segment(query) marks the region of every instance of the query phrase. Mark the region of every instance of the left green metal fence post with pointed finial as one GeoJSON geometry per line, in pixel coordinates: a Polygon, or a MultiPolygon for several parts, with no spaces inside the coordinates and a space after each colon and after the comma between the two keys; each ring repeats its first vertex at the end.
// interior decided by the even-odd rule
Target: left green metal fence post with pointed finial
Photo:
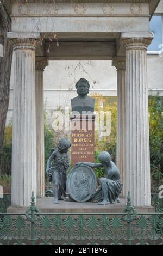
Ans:
{"type": "Polygon", "coordinates": [[[30,233],[31,245],[35,245],[35,221],[36,221],[35,212],[37,213],[37,215],[39,215],[39,210],[35,206],[34,192],[32,192],[30,206],[26,210],[27,220],[31,222],[31,226],[30,226],[30,228],[31,228],[31,233],[30,233]]]}

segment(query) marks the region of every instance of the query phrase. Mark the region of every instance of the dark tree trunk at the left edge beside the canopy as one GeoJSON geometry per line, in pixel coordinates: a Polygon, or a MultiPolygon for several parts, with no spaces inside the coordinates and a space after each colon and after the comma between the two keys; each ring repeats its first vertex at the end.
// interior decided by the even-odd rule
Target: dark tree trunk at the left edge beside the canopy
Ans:
{"type": "Polygon", "coordinates": [[[5,121],[9,106],[10,73],[12,62],[12,46],[7,38],[11,31],[11,20],[0,1],[0,44],[3,45],[3,57],[0,57],[0,153],[2,152],[5,121]]]}

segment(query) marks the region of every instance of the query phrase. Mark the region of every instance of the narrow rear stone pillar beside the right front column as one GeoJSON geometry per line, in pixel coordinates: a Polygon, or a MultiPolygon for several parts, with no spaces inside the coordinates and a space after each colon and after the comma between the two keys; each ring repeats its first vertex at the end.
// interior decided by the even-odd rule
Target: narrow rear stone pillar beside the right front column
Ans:
{"type": "Polygon", "coordinates": [[[116,56],[112,59],[112,65],[117,69],[117,167],[120,170],[122,181],[121,196],[125,197],[125,73],[126,57],[116,56]]]}

